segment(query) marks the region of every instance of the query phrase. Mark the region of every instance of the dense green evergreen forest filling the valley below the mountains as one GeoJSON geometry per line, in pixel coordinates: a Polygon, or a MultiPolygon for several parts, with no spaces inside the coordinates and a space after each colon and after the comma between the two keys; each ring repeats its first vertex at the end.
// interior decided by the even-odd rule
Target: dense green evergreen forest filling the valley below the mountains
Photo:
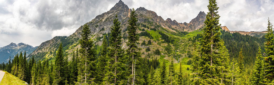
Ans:
{"type": "Polygon", "coordinates": [[[267,34],[262,37],[230,33],[221,29],[216,0],[209,0],[207,7],[209,12],[201,32],[184,42],[191,43],[186,46],[194,47],[193,51],[180,49],[181,40],[165,32],[150,28],[159,34],[153,36],[141,29],[149,27],[138,23],[139,15],[132,9],[126,30],[121,30],[119,17],[115,16],[110,33],[103,34],[100,50],[90,37],[90,26],[85,24],[78,41],[80,47],[70,57],[60,43],[54,60],[27,59],[26,52],[21,52],[2,63],[0,70],[30,85],[274,85],[274,34],[270,20],[267,34]],[[149,40],[139,40],[143,36],[149,40]],[[158,39],[155,37],[167,44],[164,49],[151,49],[158,39]],[[122,47],[125,39],[127,48],[122,47]],[[139,48],[139,44],[145,48],[139,48]],[[150,53],[142,57],[143,49],[150,53]],[[183,58],[186,60],[178,50],[187,51],[183,58]],[[162,52],[175,62],[153,57],[162,57],[162,52]]]}

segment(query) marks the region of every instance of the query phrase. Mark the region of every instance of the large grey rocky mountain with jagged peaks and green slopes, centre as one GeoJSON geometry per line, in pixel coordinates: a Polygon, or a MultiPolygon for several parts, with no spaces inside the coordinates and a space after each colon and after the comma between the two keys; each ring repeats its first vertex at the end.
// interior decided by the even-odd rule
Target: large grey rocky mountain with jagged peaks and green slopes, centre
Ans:
{"type": "MultiPolygon", "coordinates": [[[[101,15],[96,16],[94,19],[92,19],[90,22],[86,23],[90,26],[92,39],[95,41],[96,45],[100,45],[102,42],[103,35],[110,32],[110,27],[113,24],[114,16],[117,15],[119,21],[121,22],[121,29],[122,29],[122,36],[126,37],[126,27],[127,27],[127,20],[129,19],[129,15],[132,9],[129,9],[127,5],[124,4],[121,0],[114,5],[109,11],[102,13],[101,15]]],[[[171,20],[170,18],[164,20],[161,16],[158,16],[156,12],[147,10],[143,7],[139,7],[136,9],[136,13],[138,14],[138,23],[140,26],[140,29],[145,29],[147,31],[151,31],[154,33],[157,33],[155,37],[157,37],[157,40],[160,40],[160,34],[158,31],[163,31],[165,33],[170,34],[177,34],[182,31],[194,31],[197,29],[200,29],[203,26],[203,22],[205,21],[206,14],[205,12],[199,12],[198,16],[195,17],[190,21],[190,23],[178,23],[176,20],[171,20]],[[150,30],[150,29],[156,29],[150,30]]],[[[51,40],[43,42],[38,48],[31,53],[28,57],[34,56],[36,60],[40,59],[52,59],[55,56],[55,52],[57,51],[57,48],[60,43],[63,44],[63,47],[65,49],[65,54],[70,54],[72,51],[75,51],[77,48],[79,48],[79,38],[81,37],[81,30],[82,26],[80,26],[75,33],[68,37],[54,37],[51,40]]],[[[141,31],[139,31],[141,32],[141,31]]],[[[154,35],[153,35],[154,36],[154,35]]],[[[178,38],[179,37],[175,37],[178,38]]],[[[140,37],[140,42],[147,40],[147,37],[140,37]]],[[[125,46],[126,38],[123,38],[122,45],[124,48],[127,48],[125,46]]],[[[154,46],[152,49],[156,48],[164,48],[163,46],[160,46],[161,44],[157,44],[158,42],[162,41],[154,41],[156,46],[154,46]]],[[[140,48],[146,48],[144,46],[139,45],[140,48]]],[[[97,49],[98,51],[100,49],[97,49]]],[[[143,54],[142,56],[144,56],[143,54]]]]}

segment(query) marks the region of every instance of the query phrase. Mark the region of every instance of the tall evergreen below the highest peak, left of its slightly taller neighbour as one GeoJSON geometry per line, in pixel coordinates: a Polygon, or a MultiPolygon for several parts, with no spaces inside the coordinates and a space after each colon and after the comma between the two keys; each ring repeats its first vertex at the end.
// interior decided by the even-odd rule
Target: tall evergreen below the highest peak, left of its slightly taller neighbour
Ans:
{"type": "Polygon", "coordinates": [[[125,69],[126,58],[123,56],[124,51],[121,47],[122,36],[120,24],[116,15],[113,20],[113,25],[111,26],[110,48],[108,54],[110,59],[107,65],[107,76],[104,79],[105,84],[125,84],[127,82],[127,77],[125,76],[127,74],[126,70],[122,70],[125,69]]]}

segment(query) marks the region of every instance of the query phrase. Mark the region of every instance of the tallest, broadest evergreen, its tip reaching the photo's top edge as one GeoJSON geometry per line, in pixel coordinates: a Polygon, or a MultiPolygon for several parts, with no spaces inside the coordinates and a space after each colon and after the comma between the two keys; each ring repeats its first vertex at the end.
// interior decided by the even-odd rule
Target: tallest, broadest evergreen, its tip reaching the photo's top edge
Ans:
{"type": "Polygon", "coordinates": [[[222,61],[223,56],[220,56],[220,24],[219,14],[216,4],[216,0],[209,0],[207,6],[209,12],[207,12],[205,26],[202,29],[202,38],[199,40],[197,51],[194,52],[194,58],[192,63],[192,71],[194,73],[194,84],[220,84],[222,61]]]}

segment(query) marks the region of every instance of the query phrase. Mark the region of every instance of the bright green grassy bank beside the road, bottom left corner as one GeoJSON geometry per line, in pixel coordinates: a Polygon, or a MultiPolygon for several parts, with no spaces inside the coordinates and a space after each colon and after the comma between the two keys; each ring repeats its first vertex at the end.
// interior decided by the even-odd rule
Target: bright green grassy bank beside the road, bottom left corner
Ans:
{"type": "Polygon", "coordinates": [[[0,83],[0,85],[26,85],[25,81],[22,81],[18,79],[16,76],[13,76],[12,74],[5,72],[5,75],[0,83]]]}

